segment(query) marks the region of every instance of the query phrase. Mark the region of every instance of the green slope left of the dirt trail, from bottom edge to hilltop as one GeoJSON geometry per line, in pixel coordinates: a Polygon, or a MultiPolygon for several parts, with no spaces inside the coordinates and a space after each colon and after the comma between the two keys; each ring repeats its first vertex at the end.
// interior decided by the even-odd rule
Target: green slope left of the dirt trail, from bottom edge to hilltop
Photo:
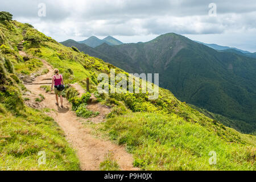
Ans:
{"type": "Polygon", "coordinates": [[[46,114],[49,109],[39,108],[39,102],[38,109],[25,104],[30,102],[29,92],[19,74],[28,80],[30,73],[46,71],[40,60],[25,61],[19,55],[16,45],[26,28],[15,21],[0,21],[0,170],[80,170],[63,130],[46,114]],[[44,155],[46,161],[40,164],[44,155]]]}

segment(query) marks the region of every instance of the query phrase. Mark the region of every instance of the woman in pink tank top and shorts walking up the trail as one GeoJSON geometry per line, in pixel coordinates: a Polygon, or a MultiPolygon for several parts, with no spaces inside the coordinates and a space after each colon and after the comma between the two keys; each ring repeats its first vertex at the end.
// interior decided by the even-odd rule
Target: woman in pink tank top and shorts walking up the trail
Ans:
{"type": "Polygon", "coordinates": [[[58,94],[60,94],[60,104],[61,104],[61,108],[63,108],[63,97],[62,97],[63,90],[59,91],[56,88],[57,85],[64,85],[63,76],[59,74],[59,69],[54,69],[54,73],[55,73],[55,75],[53,75],[53,77],[52,77],[51,91],[52,91],[53,84],[54,84],[54,93],[56,95],[56,105],[59,106],[58,94]]]}

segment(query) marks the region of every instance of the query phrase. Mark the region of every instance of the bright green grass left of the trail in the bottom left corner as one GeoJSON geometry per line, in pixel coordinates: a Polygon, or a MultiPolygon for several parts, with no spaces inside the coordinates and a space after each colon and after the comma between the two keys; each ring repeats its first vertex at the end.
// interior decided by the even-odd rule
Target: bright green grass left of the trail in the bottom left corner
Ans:
{"type": "Polygon", "coordinates": [[[26,108],[23,115],[0,114],[0,170],[79,170],[75,151],[52,118],[26,108]],[[38,164],[39,151],[46,164],[38,164]]]}

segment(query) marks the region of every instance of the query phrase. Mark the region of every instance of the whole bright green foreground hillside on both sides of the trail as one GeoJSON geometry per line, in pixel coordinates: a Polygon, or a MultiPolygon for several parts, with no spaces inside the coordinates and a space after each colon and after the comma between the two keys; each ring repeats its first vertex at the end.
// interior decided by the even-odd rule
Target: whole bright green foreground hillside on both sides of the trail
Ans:
{"type": "MultiPolygon", "coordinates": [[[[0,134],[6,136],[0,140],[2,169],[80,170],[79,164],[86,163],[86,160],[78,160],[76,147],[71,148],[65,140],[73,142],[74,136],[67,138],[61,126],[46,115],[55,115],[57,112],[64,117],[68,111],[80,117],[74,120],[78,125],[74,127],[84,130],[86,134],[92,131],[89,133],[96,134],[95,138],[101,136],[103,142],[110,139],[120,145],[118,148],[126,146],[127,152],[133,157],[133,166],[142,170],[255,171],[255,136],[241,134],[206,117],[177,100],[169,90],[159,88],[157,100],[148,100],[148,93],[100,94],[97,92],[98,75],[105,73],[110,76],[110,69],[115,69],[115,76],[118,73],[127,76],[128,73],[76,48],[65,47],[42,32],[15,20],[0,22],[0,35],[0,134]],[[21,45],[21,42],[24,44],[22,52],[19,52],[16,46],[21,45]],[[32,93],[23,85],[23,81],[30,81],[33,77],[42,75],[40,78],[43,81],[53,74],[52,69],[47,70],[43,63],[52,69],[59,68],[67,85],[64,96],[69,107],[61,109],[54,102],[52,107],[56,109],[53,111],[44,106],[39,109],[30,108],[34,105],[26,106],[26,103],[34,102],[39,105],[39,100],[44,100],[42,94],[38,95],[40,99],[29,100],[27,94],[32,93]],[[44,77],[46,74],[48,76],[44,77]],[[77,90],[68,85],[76,83],[86,88],[87,78],[90,82],[89,92],[79,97],[77,90]],[[93,123],[88,118],[88,114],[92,114],[86,107],[90,94],[97,98],[94,104],[112,109],[106,122],[93,123]],[[45,151],[47,159],[51,159],[47,160],[46,165],[38,165],[39,151],[45,151]],[[218,156],[216,165],[209,163],[211,151],[218,156]]],[[[50,85],[34,85],[33,90],[40,90],[39,93],[43,93],[43,90],[50,92],[50,85]]],[[[46,101],[54,100],[51,94],[46,95],[46,101]]],[[[67,127],[65,121],[62,123],[67,127]]],[[[72,125],[70,127],[74,130],[72,125]]],[[[87,136],[81,136],[79,131],[76,134],[75,137],[81,142],[79,147],[83,150],[88,148],[84,151],[86,155],[97,160],[96,163],[100,163],[103,170],[109,161],[118,166],[115,158],[119,156],[99,160],[104,159],[104,152],[97,158],[96,152],[90,150],[87,136]]],[[[94,146],[101,147],[100,144],[94,146]]],[[[112,149],[108,156],[115,154],[116,149],[112,149]]],[[[81,155],[86,156],[84,152],[81,155]]],[[[95,166],[87,164],[89,167],[95,166]]]]}

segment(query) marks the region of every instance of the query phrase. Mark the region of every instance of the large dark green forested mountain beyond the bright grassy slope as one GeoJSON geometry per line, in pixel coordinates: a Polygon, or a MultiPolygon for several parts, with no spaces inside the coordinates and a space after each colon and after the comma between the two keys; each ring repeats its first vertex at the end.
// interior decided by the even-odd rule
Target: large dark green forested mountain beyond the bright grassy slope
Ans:
{"type": "Polygon", "coordinates": [[[89,54],[127,72],[160,73],[160,86],[181,101],[229,118],[229,126],[243,133],[256,130],[256,59],[216,51],[177,34],[146,43],[101,44],[95,51],[89,54]]]}

